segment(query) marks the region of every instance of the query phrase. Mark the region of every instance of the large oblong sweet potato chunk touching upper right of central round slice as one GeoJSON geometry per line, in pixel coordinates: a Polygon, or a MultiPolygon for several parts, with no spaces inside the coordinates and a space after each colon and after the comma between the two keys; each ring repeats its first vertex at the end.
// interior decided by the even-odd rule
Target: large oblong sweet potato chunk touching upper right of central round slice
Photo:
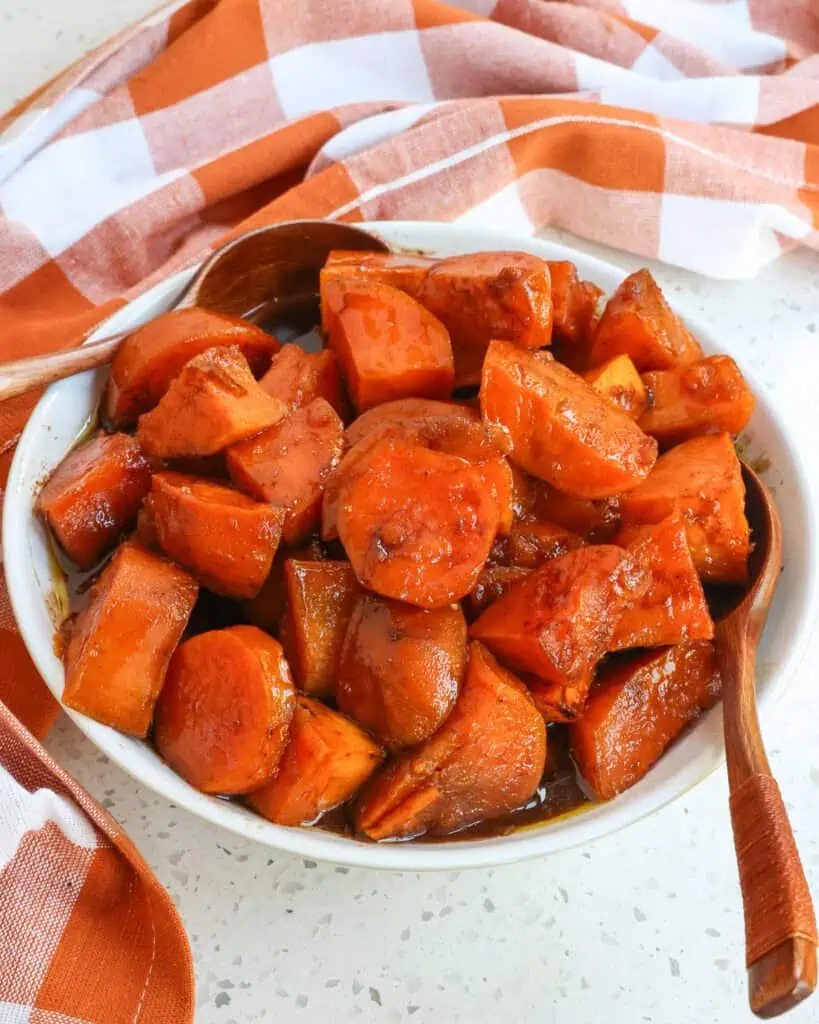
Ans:
{"type": "Polygon", "coordinates": [[[513,462],[576,498],[636,487],[657,457],[656,441],[570,370],[505,341],[489,345],[480,404],[513,462]]]}

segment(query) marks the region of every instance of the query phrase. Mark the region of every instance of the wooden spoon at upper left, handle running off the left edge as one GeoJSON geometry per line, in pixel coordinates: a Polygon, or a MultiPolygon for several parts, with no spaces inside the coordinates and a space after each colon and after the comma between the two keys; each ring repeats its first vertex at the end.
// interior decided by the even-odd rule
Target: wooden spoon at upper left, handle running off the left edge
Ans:
{"type": "MultiPolygon", "coordinates": [[[[203,264],[174,309],[205,306],[269,321],[315,307],[318,271],[332,249],[386,252],[374,234],[329,220],[271,224],[231,239],[203,264]]],[[[308,325],[308,327],[311,325],[308,325]]],[[[97,328],[91,328],[86,337],[97,328]]],[[[133,329],[60,352],[0,366],[0,401],[110,362],[133,329]]]]}

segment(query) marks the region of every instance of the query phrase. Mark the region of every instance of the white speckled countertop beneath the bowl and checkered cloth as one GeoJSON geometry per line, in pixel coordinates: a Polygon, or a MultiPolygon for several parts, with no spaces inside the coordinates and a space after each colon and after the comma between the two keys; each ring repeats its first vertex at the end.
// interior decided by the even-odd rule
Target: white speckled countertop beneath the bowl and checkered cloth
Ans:
{"type": "MultiPolygon", "coordinates": [[[[0,109],[153,6],[0,0],[0,109]]],[[[732,285],[655,269],[672,298],[710,321],[757,372],[819,484],[819,258],[791,255],[732,285]]],[[[817,895],[818,669],[819,634],[764,722],[817,895]]],[[[122,822],[176,901],[196,961],[199,1024],[752,1019],[721,773],[586,850],[486,871],[388,874],[222,833],[142,788],[66,719],[48,748],[122,822]]],[[[789,1020],[819,1021],[819,996],[789,1020]]]]}

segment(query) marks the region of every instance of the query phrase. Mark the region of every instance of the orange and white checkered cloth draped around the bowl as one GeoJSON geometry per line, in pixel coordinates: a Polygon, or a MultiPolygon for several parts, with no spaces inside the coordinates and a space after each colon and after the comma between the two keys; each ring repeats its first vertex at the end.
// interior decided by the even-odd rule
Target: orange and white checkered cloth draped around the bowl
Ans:
{"type": "MultiPolygon", "coordinates": [[[[716,278],[819,243],[812,0],[186,0],[0,120],[0,359],[228,231],[568,228],[716,278]]],[[[0,408],[0,483],[32,407],[0,408]]],[[[0,1020],[187,1021],[175,911],[48,760],[0,588],[0,1020]],[[16,717],[15,717],[16,716],[16,717]]]]}

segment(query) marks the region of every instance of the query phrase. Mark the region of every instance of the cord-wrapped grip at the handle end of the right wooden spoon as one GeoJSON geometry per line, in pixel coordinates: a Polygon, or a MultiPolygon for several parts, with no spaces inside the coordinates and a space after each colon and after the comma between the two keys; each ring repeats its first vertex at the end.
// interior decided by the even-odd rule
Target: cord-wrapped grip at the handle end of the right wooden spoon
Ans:
{"type": "Polygon", "coordinates": [[[816,919],[776,780],[753,774],[731,794],[745,913],[750,1007],[784,1013],[816,987],[816,919]]]}

